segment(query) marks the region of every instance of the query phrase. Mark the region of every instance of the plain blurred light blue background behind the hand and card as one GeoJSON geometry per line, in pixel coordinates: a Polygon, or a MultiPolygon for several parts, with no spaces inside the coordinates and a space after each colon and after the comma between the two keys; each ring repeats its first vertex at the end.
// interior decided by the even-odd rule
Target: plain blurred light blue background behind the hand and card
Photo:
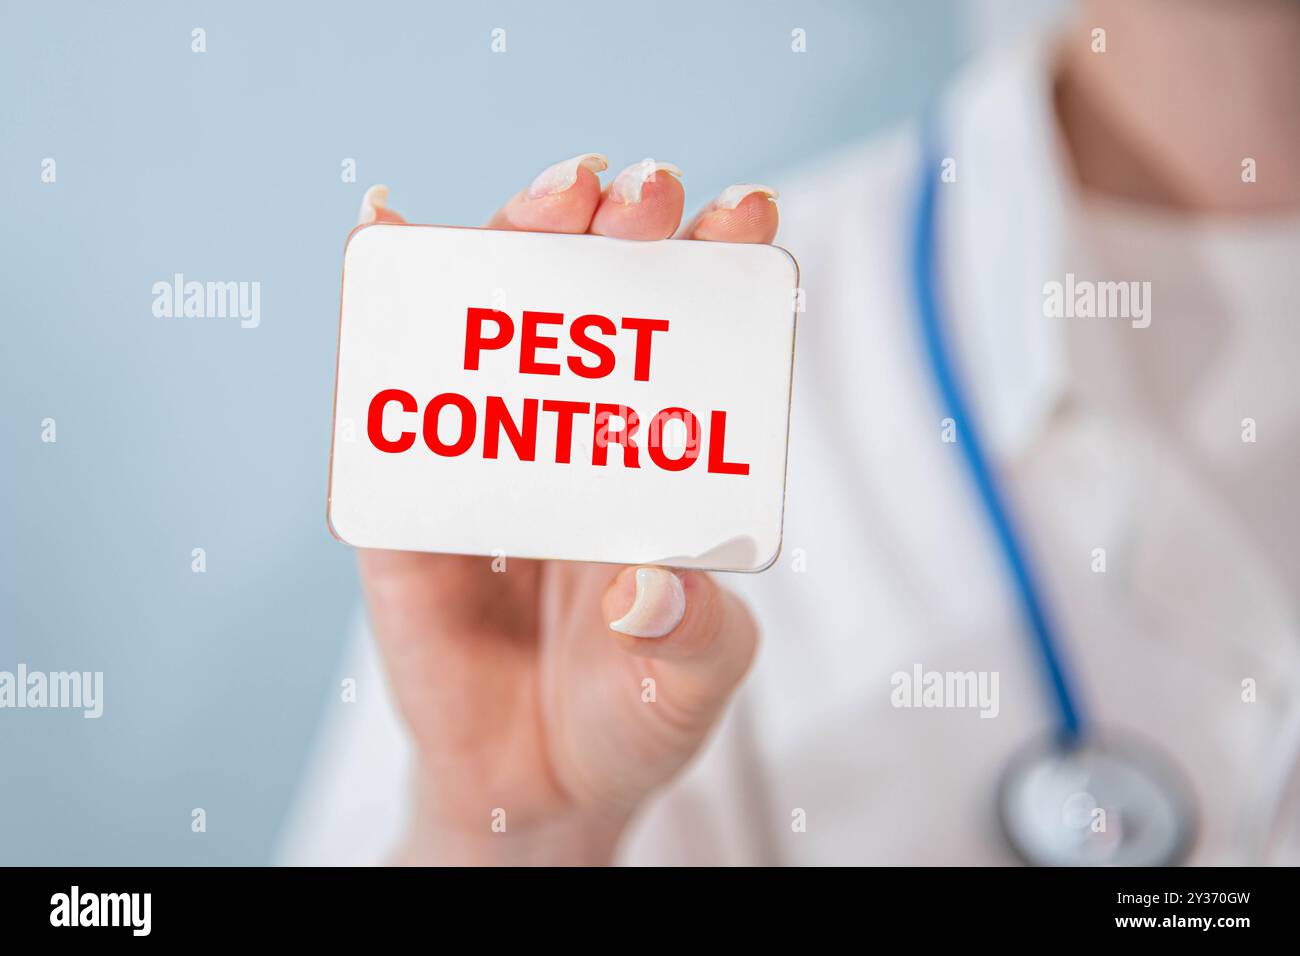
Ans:
{"type": "Polygon", "coordinates": [[[324,514],[369,183],[445,224],[585,151],[676,163],[688,207],[780,187],[1057,5],[8,5],[0,670],[103,671],[105,700],[0,710],[0,864],[272,858],[359,601],[324,514]],[[260,282],[260,325],[156,317],[174,273],[260,282]]]}

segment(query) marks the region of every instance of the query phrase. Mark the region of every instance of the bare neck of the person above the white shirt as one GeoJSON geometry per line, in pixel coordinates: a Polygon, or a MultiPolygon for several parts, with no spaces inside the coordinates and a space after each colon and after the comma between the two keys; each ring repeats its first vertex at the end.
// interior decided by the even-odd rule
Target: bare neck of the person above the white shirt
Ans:
{"type": "Polygon", "coordinates": [[[1297,209],[1300,3],[1088,0],[1063,38],[1056,107],[1087,191],[1199,213],[1297,209]]]}

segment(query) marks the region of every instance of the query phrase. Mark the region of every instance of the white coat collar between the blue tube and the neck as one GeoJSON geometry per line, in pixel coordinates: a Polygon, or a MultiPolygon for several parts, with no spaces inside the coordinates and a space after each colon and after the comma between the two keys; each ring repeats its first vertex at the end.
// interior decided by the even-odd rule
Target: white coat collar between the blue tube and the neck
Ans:
{"type": "Polygon", "coordinates": [[[975,64],[941,112],[956,160],[937,224],[944,299],[968,401],[989,450],[1023,453],[1066,385],[1063,329],[1044,316],[1060,278],[1069,161],[1056,125],[1054,38],[1036,34],[975,64]]]}

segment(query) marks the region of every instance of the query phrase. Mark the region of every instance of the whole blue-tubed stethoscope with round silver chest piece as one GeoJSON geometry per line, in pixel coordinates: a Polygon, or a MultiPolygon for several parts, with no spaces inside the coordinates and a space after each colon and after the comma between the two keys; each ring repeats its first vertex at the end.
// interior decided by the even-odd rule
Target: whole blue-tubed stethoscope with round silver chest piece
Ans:
{"type": "Polygon", "coordinates": [[[1002,773],[997,816],[1017,855],[1039,866],[1162,866],[1180,862],[1196,834],[1191,790],[1154,747],[1102,735],[1084,718],[1043,591],[998,489],[953,371],[939,297],[939,152],[927,134],[913,234],[913,294],[931,373],[957,446],[1014,584],[1056,710],[1056,734],[1002,773]]]}

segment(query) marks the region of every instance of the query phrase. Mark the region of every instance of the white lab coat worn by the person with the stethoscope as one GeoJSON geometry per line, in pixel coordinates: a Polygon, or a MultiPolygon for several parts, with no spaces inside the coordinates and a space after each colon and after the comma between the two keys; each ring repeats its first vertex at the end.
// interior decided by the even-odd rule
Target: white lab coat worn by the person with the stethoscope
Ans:
{"type": "MultiPolygon", "coordinates": [[[[945,101],[956,182],[940,187],[940,256],[962,376],[1089,715],[1183,769],[1200,810],[1192,862],[1248,862],[1265,844],[1277,858],[1265,821],[1294,763],[1295,594],[1143,421],[1070,402],[1062,326],[1043,315],[1071,202],[1045,51],[1004,51],[945,101]]],[[[916,134],[783,189],[779,242],[806,290],[784,550],[727,578],[763,646],[705,750],[636,819],[624,862],[1015,861],[998,775],[1054,714],[918,338],[916,134]],[[916,665],[996,671],[996,717],[894,706],[892,676],[916,665]]],[[[1240,441],[1232,421],[1223,436],[1240,441]]],[[[290,862],[380,861],[402,829],[407,743],[368,636],[344,675],[358,702],[333,708],[290,862]]]]}

